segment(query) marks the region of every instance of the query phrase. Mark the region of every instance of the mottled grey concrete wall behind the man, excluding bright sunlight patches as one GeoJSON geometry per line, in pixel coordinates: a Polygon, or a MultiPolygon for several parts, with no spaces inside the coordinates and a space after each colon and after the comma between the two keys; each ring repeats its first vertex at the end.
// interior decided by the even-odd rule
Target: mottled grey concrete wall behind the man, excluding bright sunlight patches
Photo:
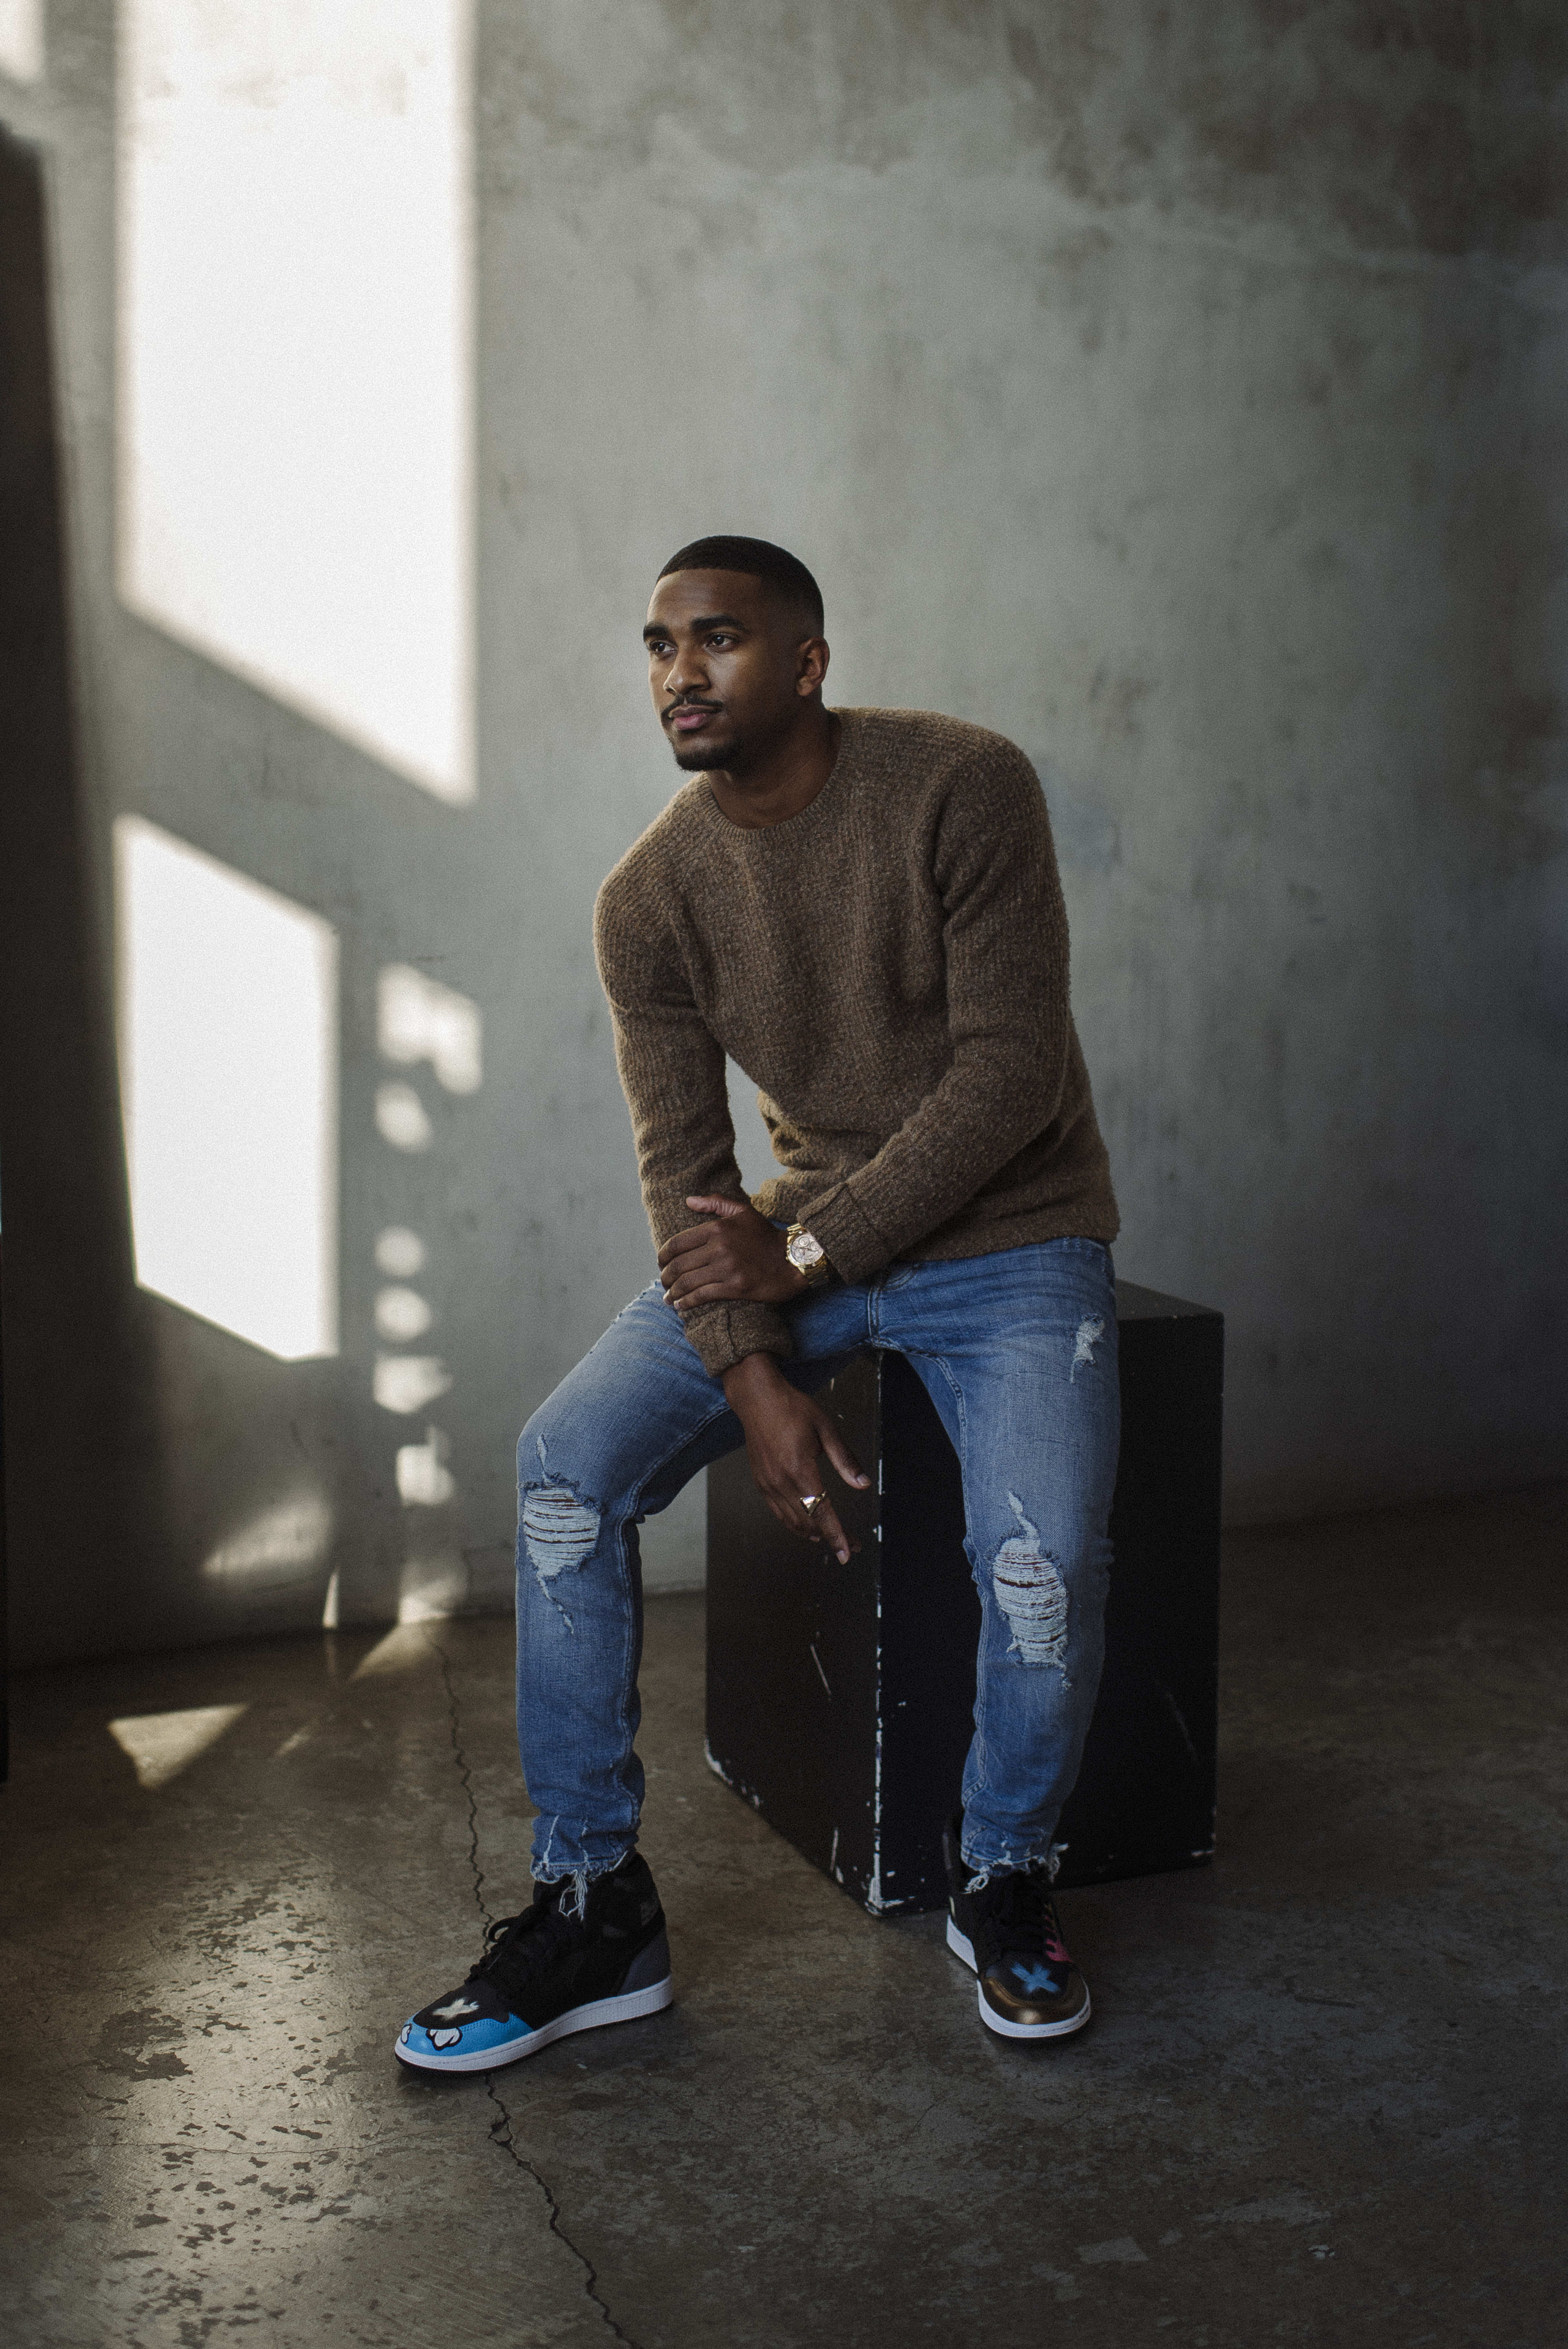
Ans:
{"type": "Polygon", "coordinates": [[[1038,759],[1117,1261],[1230,1318],[1232,1513],[1563,1473],[1559,9],[486,7],[467,808],[115,604],[113,73],[110,9],[56,0],[49,78],[0,85],[49,155],[73,498],[85,911],[45,991],[92,975],[7,1132],[28,1654],[312,1623],[331,1567],[345,1621],[505,1588],[516,1426],[650,1268],[589,904],[671,789],[636,637],[709,529],[812,564],[836,698],[1038,759]],[[120,808],[340,933],[336,1360],[129,1285],[120,808]],[[371,1113],[390,961],[486,1019],[420,1158],[371,1113]],[[385,1221],[437,1236],[441,1510],[371,1402],[385,1221]],[[214,1576],[303,1485],[331,1555],[214,1576]]]}

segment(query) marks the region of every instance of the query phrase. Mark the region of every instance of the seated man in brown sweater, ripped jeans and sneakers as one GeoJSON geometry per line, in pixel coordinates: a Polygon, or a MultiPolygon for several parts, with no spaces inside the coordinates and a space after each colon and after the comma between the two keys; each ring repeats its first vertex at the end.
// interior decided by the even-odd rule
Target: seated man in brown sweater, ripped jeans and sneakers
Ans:
{"type": "Polygon", "coordinates": [[[1103,1651],[1120,1412],[1117,1210],[1068,1012],[1068,930],[1028,759],[899,709],[826,709],[810,571],[704,538],[648,606],[692,780],[599,895],[596,947],[660,1280],[519,1445],[519,1743],[535,1898],[397,2053],[481,2072],[671,1999],[636,1851],[636,1525],[746,1445],[768,1508],[840,1562],[812,1400],[908,1355],[962,1463],[981,1597],[948,1947],[981,2020],[1089,2020],[1049,1893],[1103,1651]],[[746,1200],[725,1052],[782,1172],[746,1200]]]}

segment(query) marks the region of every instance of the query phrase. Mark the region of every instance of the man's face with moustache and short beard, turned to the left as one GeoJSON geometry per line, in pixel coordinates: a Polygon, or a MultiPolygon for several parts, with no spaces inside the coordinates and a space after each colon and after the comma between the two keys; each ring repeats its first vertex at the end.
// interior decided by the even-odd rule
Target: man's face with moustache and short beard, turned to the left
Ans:
{"type": "Polygon", "coordinates": [[[784,733],[822,684],[826,644],[768,580],[676,571],[648,606],[648,691],[688,773],[737,770],[784,733]]]}

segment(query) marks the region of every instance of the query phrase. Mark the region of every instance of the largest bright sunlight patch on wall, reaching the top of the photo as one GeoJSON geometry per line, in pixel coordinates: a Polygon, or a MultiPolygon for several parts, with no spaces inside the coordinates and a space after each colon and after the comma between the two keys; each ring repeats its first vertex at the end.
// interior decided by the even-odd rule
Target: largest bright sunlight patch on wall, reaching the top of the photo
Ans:
{"type": "Polygon", "coordinates": [[[446,801],[469,287],[469,0],[120,0],[120,592],[446,801]]]}

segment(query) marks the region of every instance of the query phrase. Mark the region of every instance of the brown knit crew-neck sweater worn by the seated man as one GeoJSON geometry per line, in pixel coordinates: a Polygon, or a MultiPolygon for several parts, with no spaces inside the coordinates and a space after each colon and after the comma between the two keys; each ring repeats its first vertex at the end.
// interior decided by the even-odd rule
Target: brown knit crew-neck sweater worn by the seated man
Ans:
{"type": "MultiPolygon", "coordinates": [[[[838,716],[800,815],[746,832],[695,775],[599,893],[655,1247],[695,1221],[688,1193],[744,1198],[725,1052],[784,1167],[756,1205],[805,1224],[845,1280],[1113,1240],[1035,770],[958,719],[838,716]]],[[[786,1306],[697,1306],[685,1327],[714,1377],[791,1353],[786,1306]]]]}

